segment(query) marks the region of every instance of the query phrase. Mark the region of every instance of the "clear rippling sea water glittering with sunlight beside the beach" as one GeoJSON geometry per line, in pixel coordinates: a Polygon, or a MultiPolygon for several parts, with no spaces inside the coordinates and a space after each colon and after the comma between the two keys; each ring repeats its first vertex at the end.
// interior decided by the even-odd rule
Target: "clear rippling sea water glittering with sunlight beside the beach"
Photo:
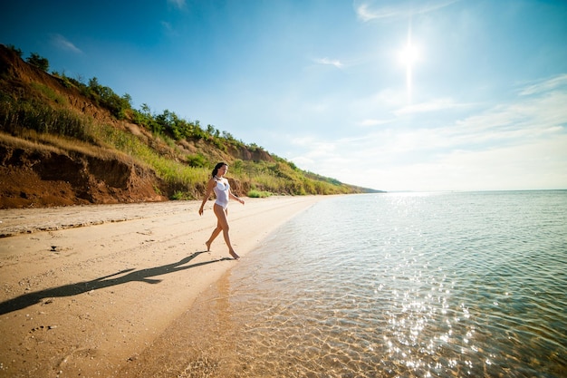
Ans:
{"type": "Polygon", "coordinates": [[[222,296],[226,376],[565,377],[567,191],[325,199],[222,296]]]}

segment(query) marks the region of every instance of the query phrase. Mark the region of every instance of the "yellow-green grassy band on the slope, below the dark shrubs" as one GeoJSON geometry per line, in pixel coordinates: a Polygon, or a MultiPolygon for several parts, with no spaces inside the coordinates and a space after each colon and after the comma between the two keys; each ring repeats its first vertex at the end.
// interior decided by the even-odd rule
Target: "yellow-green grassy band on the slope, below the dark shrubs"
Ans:
{"type": "MultiPolygon", "coordinates": [[[[58,99],[53,92],[47,93],[58,99]]],[[[122,159],[137,161],[154,170],[175,190],[173,199],[196,198],[198,194],[195,188],[207,181],[211,166],[216,163],[214,157],[205,153],[187,156],[187,153],[178,149],[178,141],[167,135],[154,133],[152,141],[144,141],[130,131],[95,121],[85,114],[38,101],[14,101],[4,96],[0,99],[0,122],[0,130],[6,133],[62,150],[76,150],[103,159],[121,156],[122,159]],[[152,144],[161,148],[157,150],[152,144]],[[198,164],[190,166],[189,162],[198,164]]],[[[219,147],[220,139],[216,136],[212,149],[219,147]]],[[[234,140],[228,135],[226,143],[230,141],[234,140]]],[[[251,196],[266,196],[266,193],[305,195],[353,192],[352,187],[333,180],[309,178],[286,160],[277,157],[274,160],[235,159],[227,162],[231,165],[231,176],[246,182],[251,196]]]]}

